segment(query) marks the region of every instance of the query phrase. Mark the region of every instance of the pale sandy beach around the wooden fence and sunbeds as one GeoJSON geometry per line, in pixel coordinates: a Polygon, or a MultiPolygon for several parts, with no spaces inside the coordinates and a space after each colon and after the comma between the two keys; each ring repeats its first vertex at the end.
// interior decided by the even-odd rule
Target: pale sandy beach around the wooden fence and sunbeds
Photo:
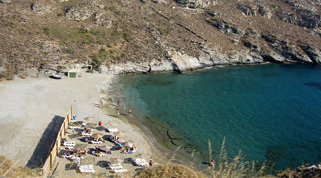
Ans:
{"type": "MultiPolygon", "coordinates": [[[[149,153],[156,163],[162,163],[164,155],[157,151],[150,143],[142,131],[125,119],[128,117],[121,113],[120,118],[115,117],[117,103],[112,103],[106,93],[106,86],[112,81],[112,75],[83,73],[81,78],[53,79],[42,77],[39,79],[16,79],[14,81],[0,84],[0,154],[9,156],[13,161],[19,162],[16,166],[26,166],[35,148],[53,118],[65,117],[73,105],[73,115],[77,116],[77,121],[84,121],[84,117],[94,117],[91,123],[98,124],[106,128],[117,128],[125,131],[123,140],[134,141],[138,150],[134,154],[122,154],[120,150],[112,150],[112,156],[125,158],[124,168],[128,171],[135,171],[140,167],[130,163],[131,158],[139,153],[149,153]],[[99,106],[99,100],[104,101],[104,108],[99,106]],[[111,126],[108,122],[117,121],[120,125],[111,126]],[[14,151],[13,149],[14,148],[14,151]]],[[[71,130],[70,130],[71,131],[71,130]]],[[[108,132],[94,129],[94,133],[110,134],[108,132]]],[[[70,132],[72,134],[72,131],[70,132]]],[[[67,134],[68,135],[68,134],[67,134]]],[[[74,141],[66,136],[67,141],[74,141]]],[[[79,140],[77,140],[78,142],[79,140]]],[[[81,141],[79,141],[81,142],[81,141]]],[[[83,142],[82,142],[83,143],[83,142]]],[[[106,142],[101,145],[113,145],[106,142]]],[[[87,149],[93,148],[93,144],[88,144],[87,149]]],[[[64,146],[61,149],[65,149],[64,146]]],[[[91,151],[89,152],[91,153],[91,151]]],[[[96,173],[106,173],[112,175],[106,169],[105,164],[111,156],[96,157],[88,155],[85,158],[95,159],[96,173]]],[[[56,158],[60,163],[58,174],[62,177],[74,177],[75,169],[67,170],[65,164],[72,163],[68,159],[56,158]]],[[[77,173],[80,175],[80,173],[77,173]]]]}

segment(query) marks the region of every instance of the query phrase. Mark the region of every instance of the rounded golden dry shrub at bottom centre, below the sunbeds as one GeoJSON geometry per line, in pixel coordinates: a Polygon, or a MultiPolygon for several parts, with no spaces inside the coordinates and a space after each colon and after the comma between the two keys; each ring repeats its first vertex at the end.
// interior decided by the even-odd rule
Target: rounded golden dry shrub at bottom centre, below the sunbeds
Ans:
{"type": "Polygon", "coordinates": [[[168,163],[138,172],[135,178],[205,178],[201,173],[183,164],[168,163]]]}

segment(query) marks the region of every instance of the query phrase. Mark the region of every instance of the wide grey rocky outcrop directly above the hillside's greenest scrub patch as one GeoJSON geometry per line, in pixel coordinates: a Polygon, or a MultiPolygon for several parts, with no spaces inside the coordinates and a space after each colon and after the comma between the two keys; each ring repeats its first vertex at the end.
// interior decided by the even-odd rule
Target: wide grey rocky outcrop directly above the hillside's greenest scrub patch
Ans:
{"type": "Polygon", "coordinates": [[[65,17],[68,20],[85,21],[86,19],[89,19],[93,13],[94,12],[92,10],[89,10],[87,8],[80,9],[76,7],[68,9],[65,13],[65,17]]]}

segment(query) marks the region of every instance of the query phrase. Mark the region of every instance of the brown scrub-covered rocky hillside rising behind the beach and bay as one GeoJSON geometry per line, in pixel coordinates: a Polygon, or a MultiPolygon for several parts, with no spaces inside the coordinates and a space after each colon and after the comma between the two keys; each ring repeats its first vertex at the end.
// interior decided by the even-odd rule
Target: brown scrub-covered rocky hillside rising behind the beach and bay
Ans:
{"type": "Polygon", "coordinates": [[[321,63],[320,0],[0,0],[0,76],[321,63]]]}

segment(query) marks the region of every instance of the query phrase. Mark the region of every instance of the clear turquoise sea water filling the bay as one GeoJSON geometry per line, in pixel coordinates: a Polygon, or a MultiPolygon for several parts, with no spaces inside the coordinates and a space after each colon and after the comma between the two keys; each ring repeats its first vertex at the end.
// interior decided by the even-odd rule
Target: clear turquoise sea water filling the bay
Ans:
{"type": "Polygon", "coordinates": [[[241,149],[245,159],[284,169],[321,162],[320,77],[321,65],[303,64],[126,75],[112,97],[168,122],[200,151],[211,139],[216,158],[226,137],[230,158],[241,149]]]}

